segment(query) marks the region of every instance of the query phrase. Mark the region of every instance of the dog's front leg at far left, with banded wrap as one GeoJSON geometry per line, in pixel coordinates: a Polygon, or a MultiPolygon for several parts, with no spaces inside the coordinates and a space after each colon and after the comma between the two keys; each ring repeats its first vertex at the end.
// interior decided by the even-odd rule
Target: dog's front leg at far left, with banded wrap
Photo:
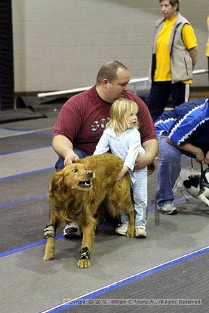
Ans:
{"type": "Polygon", "coordinates": [[[45,239],[47,239],[47,243],[45,246],[45,255],[43,257],[45,261],[49,261],[49,259],[54,258],[56,226],[56,223],[49,222],[44,230],[45,239]]]}

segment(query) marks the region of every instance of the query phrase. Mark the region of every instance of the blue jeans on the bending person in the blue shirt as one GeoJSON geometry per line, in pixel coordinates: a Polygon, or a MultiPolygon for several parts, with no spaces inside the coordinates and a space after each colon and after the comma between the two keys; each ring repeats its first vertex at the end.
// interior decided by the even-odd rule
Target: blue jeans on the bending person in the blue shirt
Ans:
{"type": "Polygon", "coordinates": [[[160,136],[158,142],[162,159],[158,166],[156,204],[162,207],[164,204],[171,203],[174,199],[172,189],[180,174],[182,154],[192,158],[195,158],[195,155],[169,145],[167,136],[160,136]]]}

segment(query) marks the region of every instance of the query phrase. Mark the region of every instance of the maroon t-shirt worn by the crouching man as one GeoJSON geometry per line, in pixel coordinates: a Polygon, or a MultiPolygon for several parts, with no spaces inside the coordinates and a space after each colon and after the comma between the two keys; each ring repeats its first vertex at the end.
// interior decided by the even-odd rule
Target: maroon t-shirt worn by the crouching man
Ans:
{"type": "MultiPolygon", "coordinates": [[[[153,119],[146,104],[133,93],[125,93],[125,98],[136,102],[139,106],[139,131],[141,143],[150,139],[157,139],[153,119]]],[[[96,92],[95,86],[90,90],[79,93],[68,99],[63,105],[54,124],[53,136],[67,137],[73,147],[93,154],[109,121],[111,104],[102,100],[96,92]]]]}

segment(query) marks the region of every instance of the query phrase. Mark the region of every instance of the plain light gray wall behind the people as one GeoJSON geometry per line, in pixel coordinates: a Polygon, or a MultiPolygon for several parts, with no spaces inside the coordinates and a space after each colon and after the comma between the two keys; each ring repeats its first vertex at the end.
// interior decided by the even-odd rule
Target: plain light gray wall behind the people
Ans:
{"type": "MultiPolygon", "coordinates": [[[[91,86],[106,61],[147,77],[158,0],[13,0],[15,92],[91,86]]],[[[196,69],[206,68],[208,0],[180,0],[196,31],[196,69]]],[[[206,75],[199,77],[201,85],[206,75]]]]}

